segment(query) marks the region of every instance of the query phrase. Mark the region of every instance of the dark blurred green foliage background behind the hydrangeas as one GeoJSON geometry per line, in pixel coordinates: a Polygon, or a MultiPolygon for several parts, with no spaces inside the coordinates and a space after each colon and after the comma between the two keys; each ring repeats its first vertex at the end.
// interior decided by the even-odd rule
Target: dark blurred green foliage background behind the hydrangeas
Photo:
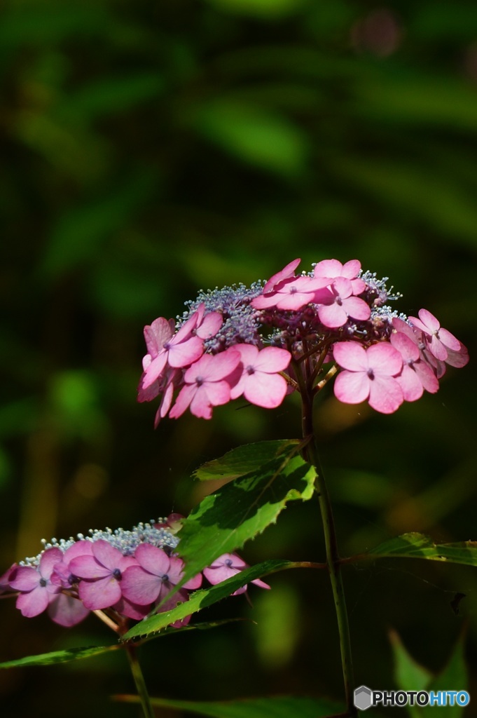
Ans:
{"type": "MultiPolygon", "coordinates": [[[[359,258],[471,353],[393,416],[321,402],[342,554],[412,530],[477,539],[477,6],[4,0],[0,73],[0,573],[40,538],[186,513],[201,462],[299,434],[293,397],[156,432],[156,406],[136,404],[143,325],[296,256],[359,258]]],[[[318,506],[292,505],[243,553],[322,560],[318,506]]],[[[466,633],[477,691],[475,569],[383,562],[345,580],[359,684],[393,687],[394,628],[433,671],[466,633]]],[[[253,609],[207,613],[246,623],[146,646],[151,694],[341,696],[326,576],[270,583],[253,609]]],[[[0,660],[114,640],[11,600],[0,625],[0,660]]],[[[0,672],[6,717],[127,717],[108,694],[132,690],[121,655],[0,672]]]]}

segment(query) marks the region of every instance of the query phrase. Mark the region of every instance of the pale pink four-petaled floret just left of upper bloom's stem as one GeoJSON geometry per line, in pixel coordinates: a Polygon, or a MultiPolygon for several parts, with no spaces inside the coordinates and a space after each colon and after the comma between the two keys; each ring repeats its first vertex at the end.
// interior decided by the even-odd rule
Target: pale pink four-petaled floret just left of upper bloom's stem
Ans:
{"type": "Polygon", "coordinates": [[[240,353],[243,371],[238,383],[232,387],[230,398],[242,394],[247,401],[265,409],[280,406],[287,392],[288,384],[278,374],[288,367],[291,354],[278,347],[265,347],[261,351],[252,344],[237,344],[235,351],[240,353]]]}

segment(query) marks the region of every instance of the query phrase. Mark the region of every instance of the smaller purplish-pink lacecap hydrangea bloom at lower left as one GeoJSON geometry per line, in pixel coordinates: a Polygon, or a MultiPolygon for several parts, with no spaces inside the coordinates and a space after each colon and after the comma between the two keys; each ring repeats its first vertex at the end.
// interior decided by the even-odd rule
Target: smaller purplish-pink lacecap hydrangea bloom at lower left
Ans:
{"type": "MultiPolygon", "coordinates": [[[[189,592],[201,587],[203,579],[202,573],[197,574],[168,598],[184,574],[175,535],[181,518],[171,514],[131,530],[92,529],[87,536],[43,541],[43,551],[14,564],[0,577],[0,593],[16,596],[22,615],[32,618],[46,610],[63,626],[80,623],[91,611],[100,612],[117,627],[155,610],[170,610],[189,600],[189,592]]],[[[220,556],[212,567],[227,561],[233,564],[232,573],[215,572],[210,584],[247,567],[237,554],[220,556]]],[[[254,583],[268,588],[262,581],[254,583]]],[[[187,616],[171,625],[179,628],[189,620],[187,616]]]]}

